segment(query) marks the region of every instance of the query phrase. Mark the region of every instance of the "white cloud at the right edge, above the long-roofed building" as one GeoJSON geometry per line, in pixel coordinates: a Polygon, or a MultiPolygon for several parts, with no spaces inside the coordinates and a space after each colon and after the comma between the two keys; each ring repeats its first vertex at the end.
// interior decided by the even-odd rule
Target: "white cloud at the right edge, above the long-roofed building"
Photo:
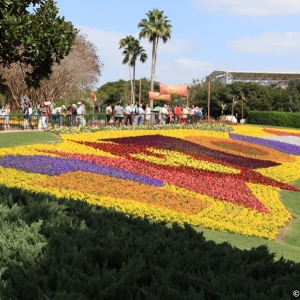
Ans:
{"type": "Polygon", "coordinates": [[[300,32],[265,32],[259,36],[248,36],[227,41],[237,51],[253,53],[286,53],[300,51],[300,32]]]}

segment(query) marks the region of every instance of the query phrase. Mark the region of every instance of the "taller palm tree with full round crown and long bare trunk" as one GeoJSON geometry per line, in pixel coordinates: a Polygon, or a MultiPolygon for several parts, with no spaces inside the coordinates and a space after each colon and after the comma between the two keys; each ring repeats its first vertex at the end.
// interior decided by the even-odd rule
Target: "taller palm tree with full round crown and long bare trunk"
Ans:
{"type": "MultiPolygon", "coordinates": [[[[154,90],[154,77],[155,77],[155,65],[157,57],[158,41],[161,38],[164,43],[171,38],[170,21],[164,16],[164,11],[160,11],[157,8],[146,13],[148,19],[142,19],[138,24],[141,28],[139,38],[147,38],[152,43],[152,66],[151,66],[151,86],[150,89],[154,90]]],[[[153,100],[150,101],[150,107],[153,108],[153,100]]]]}

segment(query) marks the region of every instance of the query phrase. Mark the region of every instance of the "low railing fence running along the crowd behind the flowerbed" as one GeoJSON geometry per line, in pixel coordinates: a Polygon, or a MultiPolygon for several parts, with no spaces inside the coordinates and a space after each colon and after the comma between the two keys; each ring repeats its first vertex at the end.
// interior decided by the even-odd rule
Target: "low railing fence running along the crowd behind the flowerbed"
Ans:
{"type": "MultiPolygon", "coordinates": [[[[120,120],[120,123],[126,125],[134,124],[134,125],[141,125],[141,124],[169,124],[169,123],[175,123],[175,124],[194,124],[197,122],[197,116],[174,116],[170,115],[169,118],[166,118],[162,116],[159,113],[152,112],[148,115],[143,115],[143,118],[138,118],[136,115],[130,115],[131,116],[131,122],[130,118],[127,118],[126,115],[123,116],[123,119],[120,120]]],[[[0,116],[0,130],[4,129],[4,120],[7,116],[0,116]]],[[[116,123],[119,121],[117,117],[114,116],[107,116],[105,113],[97,113],[97,114],[87,114],[85,116],[85,125],[87,126],[106,126],[106,125],[116,125],[116,123]]],[[[9,116],[9,126],[11,129],[14,130],[22,130],[23,129],[23,121],[24,117],[23,115],[10,115],[9,116]]],[[[31,116],[31,124],[33,126],[33,129],[40,129],[40,117],[37,115],[31,116]]],[[[59,125],[58,118],[55,120],[54,126],[59,125]]],[[[63,126],[78,126],[79,120],[76,118],[76,115],[74,116],[62,116],[62,125],[63,126]]],[[[52,116],[49,117],[48,120],[48,126],[52,126],[52,116]]]]}

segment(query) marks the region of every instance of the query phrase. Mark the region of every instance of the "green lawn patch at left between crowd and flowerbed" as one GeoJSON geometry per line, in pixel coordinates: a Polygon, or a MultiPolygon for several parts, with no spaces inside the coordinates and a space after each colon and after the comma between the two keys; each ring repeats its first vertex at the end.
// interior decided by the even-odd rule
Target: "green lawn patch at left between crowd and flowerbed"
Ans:
{"type": "Polygon", "coordinates": [[[20,131],[0,134],[0,148],[17,147],[32,144],[61,143],[62,139],[51,132],[20,131]]]}

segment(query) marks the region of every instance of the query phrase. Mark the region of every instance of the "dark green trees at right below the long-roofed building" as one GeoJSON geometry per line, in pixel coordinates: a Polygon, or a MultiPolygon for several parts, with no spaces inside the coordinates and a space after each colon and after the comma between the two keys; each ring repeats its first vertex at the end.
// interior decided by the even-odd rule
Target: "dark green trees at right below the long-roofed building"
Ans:
{"type": "MultiPolygon", "coordinates": [[[[208,82],[193,80],[189,92],[190,104],[202,106],[207,111],[208,82]]],[[[224,114],[231,115],[232,98],[235,98],[237,102],[234,106],[234,115],[237,113],[241,116],[242,95],[247,98],[243,103],[244,117],[253,110],[300,112],[300,80],[291,81],[286,89],[252,82],[234,82],[227,85],[211,82],[210,115],[214,118],[219,117],[222,113],[222,104],[227,104],[224,114]]]]}

